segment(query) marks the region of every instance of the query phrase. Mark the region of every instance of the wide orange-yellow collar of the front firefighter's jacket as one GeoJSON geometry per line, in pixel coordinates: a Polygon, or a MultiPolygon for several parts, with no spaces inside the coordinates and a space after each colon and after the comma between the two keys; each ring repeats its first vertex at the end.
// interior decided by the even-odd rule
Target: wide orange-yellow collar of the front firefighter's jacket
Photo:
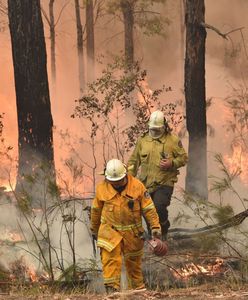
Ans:
{"type": "MultiPolygon", "coordinates": [[[[129,197],[134,197],[134,189],[133,189],[133,181],[134,177],[130,174],[127,175],[127,186],[126,188],[121,192],[122,196],[128,195],[129,197]]],[[[102,186],[102,191],[101,191],[101,198],[104,200],[110,200],[114,198],[118,192],[112,187],[112,185],[104,181],[103,186],[102,186]]]]}

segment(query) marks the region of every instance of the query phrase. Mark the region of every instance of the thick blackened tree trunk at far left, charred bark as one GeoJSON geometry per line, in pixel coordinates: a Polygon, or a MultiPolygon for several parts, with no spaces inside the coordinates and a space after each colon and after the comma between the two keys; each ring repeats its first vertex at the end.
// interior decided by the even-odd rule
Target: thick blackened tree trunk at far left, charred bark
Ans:
{"type": "MultiPolygon", "coordinates": [[[[40,1],[9,0],[8,15],[18,117],[18,190],[41,168],[54,178],[53,120],[40,1]]],[[[38,198],[42,197],[35,195],[38,198]]]]}

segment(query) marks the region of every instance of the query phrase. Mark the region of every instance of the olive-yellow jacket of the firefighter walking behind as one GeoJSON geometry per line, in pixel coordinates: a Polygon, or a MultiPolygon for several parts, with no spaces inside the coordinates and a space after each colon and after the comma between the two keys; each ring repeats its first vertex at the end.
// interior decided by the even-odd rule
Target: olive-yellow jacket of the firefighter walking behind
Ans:
{"type": "Polygon", "coordinates": [[[164,134],[159,139],[153,139],[149,133],[140,137],[128,161],[130,173],[136,176],[151,193],[157,186],[173,186],[177,182],[178,168],[187,163],[188,156],[180,139],[172,134],[164,134]],[[162,158],[169,158],[172,167],[162,170],[159,166],[162,158]]]}

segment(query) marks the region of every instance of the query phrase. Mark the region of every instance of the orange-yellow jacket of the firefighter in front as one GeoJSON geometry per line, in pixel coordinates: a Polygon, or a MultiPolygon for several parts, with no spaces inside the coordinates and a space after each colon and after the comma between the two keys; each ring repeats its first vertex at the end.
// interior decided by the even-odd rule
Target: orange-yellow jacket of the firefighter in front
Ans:
{"type": "Polygon", "coordinates": [[[142,214],[152,229],[160,229],[156,208],[138,179],[128,175],[127,186],[121,193],[105,180],[98,184],[91,207],[91,231],[97,235],[97,246],[110,252],[125,238],[130,243],[136,241],[137,245],[130,247],[136,251],[140,239],[133,237],[141,238],[144,232],[142,214]]]}

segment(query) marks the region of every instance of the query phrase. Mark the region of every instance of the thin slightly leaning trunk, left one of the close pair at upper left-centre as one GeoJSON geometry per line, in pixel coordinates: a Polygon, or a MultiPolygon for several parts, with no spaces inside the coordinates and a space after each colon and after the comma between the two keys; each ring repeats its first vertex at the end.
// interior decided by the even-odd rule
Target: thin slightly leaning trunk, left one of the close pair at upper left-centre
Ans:
{"type": "Polygon", "coordinates": [[[84,49],[83,49],[83,28],[80,16],[79,0],[75,0],[75,14],[77,26],[77,52],[78,52],[78,74],[80,94],[85,88],[85,67],[84,67],[84,49]]]}

